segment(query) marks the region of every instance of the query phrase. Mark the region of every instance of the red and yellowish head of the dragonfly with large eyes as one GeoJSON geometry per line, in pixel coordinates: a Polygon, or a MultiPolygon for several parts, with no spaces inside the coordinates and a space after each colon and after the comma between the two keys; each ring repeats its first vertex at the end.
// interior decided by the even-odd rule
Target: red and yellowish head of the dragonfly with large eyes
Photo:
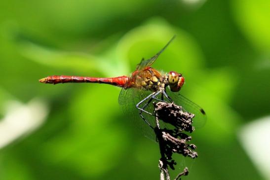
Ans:
{"type": "Polygon", "coordinates": [[[168,75],[168,84],[172,92],[180,91],[181,87],[184,85],[185,79],[181,73],[171,71],[168,75]]]}

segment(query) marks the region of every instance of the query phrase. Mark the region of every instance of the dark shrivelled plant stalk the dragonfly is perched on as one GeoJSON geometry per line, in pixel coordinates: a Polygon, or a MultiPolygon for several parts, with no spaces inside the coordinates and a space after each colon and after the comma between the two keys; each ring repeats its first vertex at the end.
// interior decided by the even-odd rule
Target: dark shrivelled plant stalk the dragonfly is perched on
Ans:
{"type": "MultiPolygon", "coordinates": [[[[159,144],[161,158],[159,159],[160,180],[170,180],[168,166],[174,170],[176,162],[172,159],[173,153],[179,153],[184,156],[196,158],[197,152],[194,144],[188,144],[191,141],[191,136],[183,133],[184,131],[192,133],[194,127],[192,126],[192,118],[194,114],[185,112],[182,107],[174,103],[158,102],[154,103],[154,115],[156,120],[156,127],[154,132],[159,144]],[[169,123],[175,129],[161,129],[159,121],[169,123]]],[[[176,177],[175,180],[180,180],[181,176],[187,176],[189,173],[186,167],[184,171],[176,177]]]]}

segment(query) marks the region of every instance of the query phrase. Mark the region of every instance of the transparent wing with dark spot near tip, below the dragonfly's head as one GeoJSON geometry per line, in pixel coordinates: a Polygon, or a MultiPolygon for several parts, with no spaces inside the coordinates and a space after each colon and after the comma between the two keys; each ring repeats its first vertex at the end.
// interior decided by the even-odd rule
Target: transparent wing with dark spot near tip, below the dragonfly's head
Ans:
{"type": "Polygon", "coordinates": [[[194,127],[200,128],[205,125],[207,118],[204,110],[201,107],[199,107],[183,95],[179,94],[179,92],[174,93],[169,88],[167,88],[166,90],[166,93],[176,105],[182,106],[185,111],[195,114],[195,117],[193,118],[194,127]]]}

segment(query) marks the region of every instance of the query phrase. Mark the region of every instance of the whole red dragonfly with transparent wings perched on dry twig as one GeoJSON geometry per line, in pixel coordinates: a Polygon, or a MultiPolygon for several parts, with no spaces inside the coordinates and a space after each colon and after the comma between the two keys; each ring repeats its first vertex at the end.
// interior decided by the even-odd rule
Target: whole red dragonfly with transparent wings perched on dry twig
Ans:
{"type": "MultiPolygon", "coordinates": [[[[49,84],[88,82],[121,87],[118,102],[126,114],[126,118],[133,120],[137,128],[142,130],[145,136],[153,140],[155,140],[153,131],[155,119],[152,114],[154,106],[150,105],[152,101],[174,102],[182,106],[184,110],[195,114],[193,118],[195,127],[203,126],[206,122],[204,110],[179,94],[185,82],[182,74],[174,71],[163,74],[150,67],[174,38],[175,36],[152,58],[148,60],[142,59],[129,77],[125,75],[111,78],[51,75],[39,79],[39,82],[49,84]]],[[[162,126],[165,127],[166,124],[163,123],[162,126]]]]}

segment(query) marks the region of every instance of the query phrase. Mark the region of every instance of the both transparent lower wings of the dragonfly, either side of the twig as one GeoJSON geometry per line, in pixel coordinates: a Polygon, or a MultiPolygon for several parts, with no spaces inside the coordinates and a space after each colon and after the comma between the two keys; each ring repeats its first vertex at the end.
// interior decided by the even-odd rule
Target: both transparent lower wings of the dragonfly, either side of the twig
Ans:
{"type": "MultiPolygon", "coordinates": [[[[139,90],[136,88],[122,88],[119,94],[118,103],[120,108],[123,110],[126,119],[131,121],[132,125],[134,125],[135,128],[138,129],[144,136],[153,141],[156,141],[154,130],[141,118],[139,109],[136,108],[136,105],[151,93],[151,91],[139,90]]],[[[180,95],[179,93],[173,93],[167,89],[167,94],[176,105],[182,106],[184,110],[195,114],[195,117],[193,118],[194,127],[199,128],[204,126],[206,123],[206,115],[202,108],[184,96],[180,95]]],[[[161,99],[161,94],[156,98],[161,99]]],[[[147,101],[145,101],[145,103],[147,103],[147,101]]],[[[150,113],[154,112],[154,101],[157,100],[152,100],[151,103],[145,108],[146,111],[150,113]]],[[[143,103],[140,107],[142,107],[145,103],[143,103]]],[[[152,127],[156,126],[154,115],[150,115],[146,112],[142,112],[142,115],[151,124],[152,127]]],[[[163,121],[159,121],[159,125],[161,128],[170,127],[170,125],[164,123],[163,121]]]]}

